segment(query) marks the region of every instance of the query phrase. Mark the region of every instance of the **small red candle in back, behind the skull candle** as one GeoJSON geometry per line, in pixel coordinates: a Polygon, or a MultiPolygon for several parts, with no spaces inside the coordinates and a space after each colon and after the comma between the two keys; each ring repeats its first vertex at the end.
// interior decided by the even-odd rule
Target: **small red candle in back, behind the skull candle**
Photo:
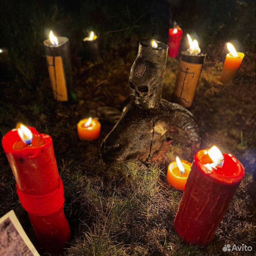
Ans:
{"type": "Polygon", "coordinates": [[[168,37],[168,56],[171,58],[177,58],[180,50],[180,41],[182,38],[182,30],[180,27],[174,27],[169,29],[168,37]]]}

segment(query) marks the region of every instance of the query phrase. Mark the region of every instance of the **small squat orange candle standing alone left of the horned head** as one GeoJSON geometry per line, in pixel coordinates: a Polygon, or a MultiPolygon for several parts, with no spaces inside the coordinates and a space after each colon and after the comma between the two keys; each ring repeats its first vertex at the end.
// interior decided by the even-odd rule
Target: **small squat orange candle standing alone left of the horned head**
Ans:
{"type": "Polygon", "coordinates": [[[77,124],[78,137],[81,140],[96,140],[101,135],[101,123],[94,118],[85,118],[77,124]]]}

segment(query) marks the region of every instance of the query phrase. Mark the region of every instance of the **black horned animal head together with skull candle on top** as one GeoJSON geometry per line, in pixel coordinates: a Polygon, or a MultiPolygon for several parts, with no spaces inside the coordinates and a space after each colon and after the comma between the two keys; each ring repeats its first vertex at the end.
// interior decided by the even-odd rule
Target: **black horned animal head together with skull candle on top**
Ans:
{"type": "Polygon", "coordinates": [[[101,157],[106,163],[150,161],[170,140],[185,144],[193,152],[200,146],[199,128],[192,113],[161,99],[168,46],[157,44],[156,48],[151,40],[139,44],[129,79],[135,101],[125,107],[101,144],[101,157]]]}

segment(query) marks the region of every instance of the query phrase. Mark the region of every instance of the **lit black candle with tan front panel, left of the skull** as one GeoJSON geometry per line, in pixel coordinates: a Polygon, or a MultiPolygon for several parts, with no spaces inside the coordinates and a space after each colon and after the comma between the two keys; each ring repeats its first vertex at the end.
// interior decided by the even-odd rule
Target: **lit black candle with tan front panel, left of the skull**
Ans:
{"type": "Polygon", "coordinates": [[[53,96],[57,101],[68,101],[72,88],[69,39],[55,37],[52,31],[50,39],[44,41],[44,46],[53,96]]]}

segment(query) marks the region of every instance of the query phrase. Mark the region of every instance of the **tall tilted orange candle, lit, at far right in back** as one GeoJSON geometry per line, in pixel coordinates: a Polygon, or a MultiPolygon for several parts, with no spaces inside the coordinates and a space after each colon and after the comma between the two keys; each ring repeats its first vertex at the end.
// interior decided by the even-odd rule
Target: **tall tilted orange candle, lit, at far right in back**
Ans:
{"type": "Polygon", "coordinates": [[[227,43],[227,48],[229,53],[227,54],[223,65],[220,77],[221,82],[228,82],[233,79],[244,58],[244,53],[236,52],[235,47],[232,44],[227,43]]]}

